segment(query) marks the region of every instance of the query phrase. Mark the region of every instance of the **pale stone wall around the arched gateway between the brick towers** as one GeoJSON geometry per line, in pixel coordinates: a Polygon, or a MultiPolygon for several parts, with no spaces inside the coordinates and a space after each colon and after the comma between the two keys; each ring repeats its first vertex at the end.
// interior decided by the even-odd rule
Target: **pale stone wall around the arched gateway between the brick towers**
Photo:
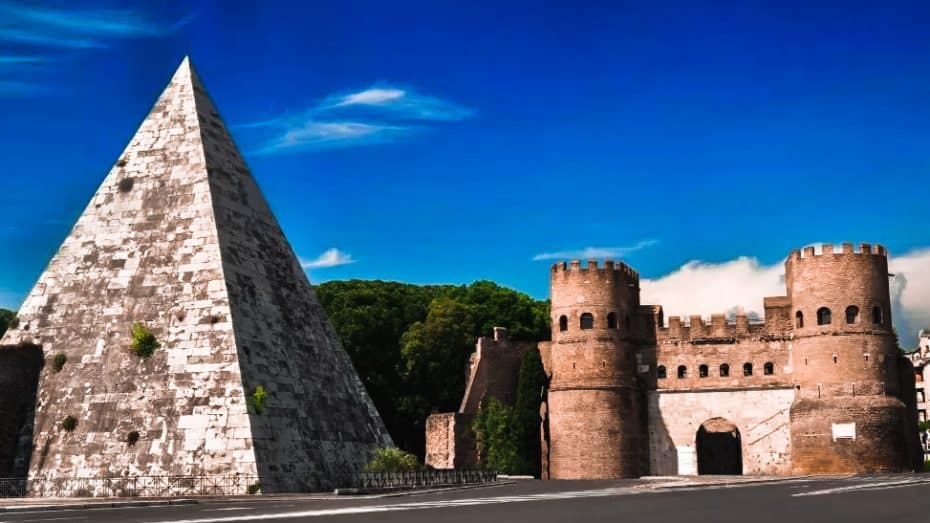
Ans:
{"type": "Polygon", "coordinates": [[[649,473],[697,474],[697,431],[710,419],[724,418],[739,429],[744,474],[789,474],[789,410],[793,400],[790,386],[650,391],[649,473]]]}

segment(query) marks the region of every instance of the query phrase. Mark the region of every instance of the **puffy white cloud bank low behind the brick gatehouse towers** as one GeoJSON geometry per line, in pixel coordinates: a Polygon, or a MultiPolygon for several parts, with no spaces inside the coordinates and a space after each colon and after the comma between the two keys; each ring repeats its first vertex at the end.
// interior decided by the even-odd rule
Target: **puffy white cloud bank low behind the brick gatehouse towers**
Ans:
{"type": "MultiPolygon", "coordinates": [[[[930,249],[890,258],[893,320],[902,347],[916,342],[917,330],[930,327],[930,249]]],[[[743,309],[764,316],[762,298],[785,294],[784,263],[761,265],[740,257],[723,263],[691,261],[656,279],[644,279],[642,302],[662,305],[665,317],[708,317],[743,309]]]]}

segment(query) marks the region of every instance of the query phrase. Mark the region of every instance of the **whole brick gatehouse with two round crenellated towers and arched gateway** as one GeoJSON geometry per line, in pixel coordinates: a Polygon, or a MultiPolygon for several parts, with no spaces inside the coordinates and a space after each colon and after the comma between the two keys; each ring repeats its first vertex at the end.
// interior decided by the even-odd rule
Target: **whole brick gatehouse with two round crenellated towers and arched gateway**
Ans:
{"type": "MultiPolygon", "coordinates": [[[[666,322],[639,275],[555,264],[543,476],[915,470],[912,365],[891,323],[882,246],[793,251],[764,318],[666,322]]],[[[474,392],[472,392],[474,393],[474,392]]]]}

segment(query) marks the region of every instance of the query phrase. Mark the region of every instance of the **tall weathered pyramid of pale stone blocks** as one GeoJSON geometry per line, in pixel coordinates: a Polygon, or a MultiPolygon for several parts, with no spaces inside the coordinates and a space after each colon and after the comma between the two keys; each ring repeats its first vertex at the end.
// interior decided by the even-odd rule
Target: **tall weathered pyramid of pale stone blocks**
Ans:
{"type": "Polygon", "coordinates": [[[0,353],[45,360],[30,479],[240,475],[305,491],[391,444],[188,58],[18,319],[0,353]],[[135,324],[159,344],[149,357],[130,350],[135,324]]]}

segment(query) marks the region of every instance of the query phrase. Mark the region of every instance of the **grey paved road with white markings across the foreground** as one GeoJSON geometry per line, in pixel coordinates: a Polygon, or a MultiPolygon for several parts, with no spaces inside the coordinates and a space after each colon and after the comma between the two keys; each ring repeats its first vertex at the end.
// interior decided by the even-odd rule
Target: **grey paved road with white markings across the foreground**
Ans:
{"type": "Polygon", "coordinates": [[[0,521],[418,523],[503,521],[897,523],[930,521],[930,476],[699,481],[521,481],[399,497],[234,500],[141,508],[0,512],[0,521]]]}

